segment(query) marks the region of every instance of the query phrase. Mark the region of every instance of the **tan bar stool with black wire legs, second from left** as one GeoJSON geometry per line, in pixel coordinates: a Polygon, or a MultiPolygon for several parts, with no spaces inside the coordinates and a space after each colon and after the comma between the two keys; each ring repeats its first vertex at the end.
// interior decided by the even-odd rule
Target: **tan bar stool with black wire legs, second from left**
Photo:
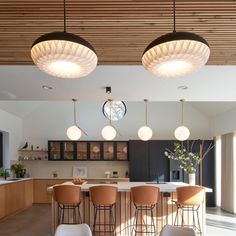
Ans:
{"type": "MultiPolygon", "coordinates": [[[[94,206],[94,221],[93,221],[93,235],[104,235],[109,233],[109,235],[116,235],[116,219],[113,214],[113,208],[116,204],[117,198],[117,187],[113,186],[94,186],[89,188],[90,200],[94,206]],[[103,211],[104,214],[108,212],[109,223],[97,222],[98,213],[103,211]],[[107,230],[107,227],[109,229],[107,230]]],[[[105,218],[105,217],[104,217],[105,218]]]]}

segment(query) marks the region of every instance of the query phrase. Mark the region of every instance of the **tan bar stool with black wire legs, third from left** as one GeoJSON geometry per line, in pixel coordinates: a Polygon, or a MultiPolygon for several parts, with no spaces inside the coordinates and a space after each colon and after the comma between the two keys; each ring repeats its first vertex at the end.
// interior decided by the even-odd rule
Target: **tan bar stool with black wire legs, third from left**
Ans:
{"type": "Polygon", "coordinates": [[[133,221],[132,235],[133,232],[136,234],[153,234],[156,235],[156,227],[153,216],[153,209],[158,203],[160,188],[154,186],[137,186],[131,188],[131,198],[135,206],[135,216],[133,221]],[[151,214],[151,224],[145,222],[141,219],[141,224],[138,223],[139,214],[142,217],[142,211],[145,211],[146,214],[150,212],[151,214]],[[145,230],[143,231],[143,226],[145,230]],[[138,227],[141,227],[141,230],[138,230],[138,227]],[[148,228],[151,228],[151,231],[148,231],[148,228]]]}

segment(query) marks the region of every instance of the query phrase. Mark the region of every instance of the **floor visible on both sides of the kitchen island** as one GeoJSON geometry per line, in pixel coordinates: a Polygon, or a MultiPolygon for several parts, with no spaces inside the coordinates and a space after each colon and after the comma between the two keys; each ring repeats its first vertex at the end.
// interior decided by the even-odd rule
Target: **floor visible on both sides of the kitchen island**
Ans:
{"type": "MultiPolygon", "coordinates": [[[[206,236],[235,236],[236,215],[220,208],[207,208],[206,236]]],[[[34,204],[31,208],[0,221],[0,236],[52,236],[51,205],[34,204]]]]}

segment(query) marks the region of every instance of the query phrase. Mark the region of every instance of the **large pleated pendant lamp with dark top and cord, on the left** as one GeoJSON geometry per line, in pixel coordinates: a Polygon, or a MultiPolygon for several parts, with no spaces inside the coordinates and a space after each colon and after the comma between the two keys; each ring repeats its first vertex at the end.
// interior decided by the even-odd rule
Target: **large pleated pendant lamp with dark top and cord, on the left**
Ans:
{"type": "Polygon", "coordinates": [[[47,33],[31,47],[31,57],[43,72],[64,79],[74,79],[90,74],[97,65],[97,55],[85,39],[66,32],[66,7],[64,0],[64,31],[47,33]]]}

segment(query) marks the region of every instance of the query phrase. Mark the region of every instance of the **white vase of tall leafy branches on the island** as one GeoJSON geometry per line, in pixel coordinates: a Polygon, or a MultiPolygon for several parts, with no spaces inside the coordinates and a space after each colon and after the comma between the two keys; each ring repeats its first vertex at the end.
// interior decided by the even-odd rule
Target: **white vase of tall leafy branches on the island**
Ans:
{"type": "Polygon", "coordinates": [[[165,156],[179,161],[180,168],[183,169],[189,175],[189,184],[195,185],[195,175],[198,168],[199,163],[203,160],[209,151],[214,148],[213,144],[210,144],[207,150],[200,155],[199,152],[193,151],[194,141],[191,144],[190,149],[183,146],[181,143],[174,143],[174,150],[171,151],[166,149],[165,156]]]}

